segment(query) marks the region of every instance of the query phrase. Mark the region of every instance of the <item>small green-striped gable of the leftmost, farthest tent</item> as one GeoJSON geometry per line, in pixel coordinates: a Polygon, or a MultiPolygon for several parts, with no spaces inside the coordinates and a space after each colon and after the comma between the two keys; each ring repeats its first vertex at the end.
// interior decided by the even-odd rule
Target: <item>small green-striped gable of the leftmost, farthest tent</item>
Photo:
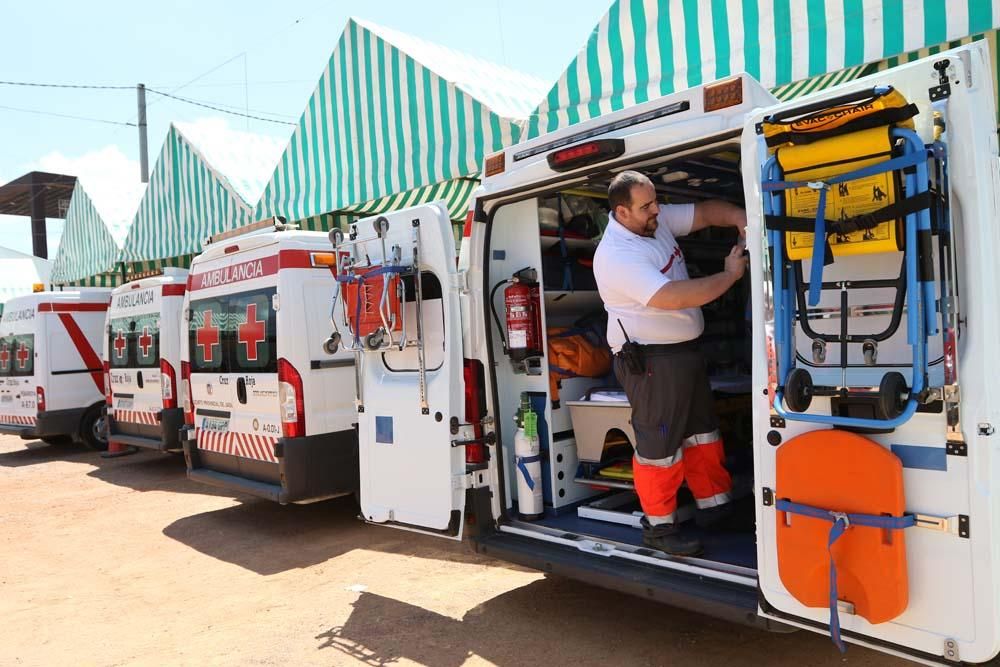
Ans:
{"type": "Polygon", "coordinates": [[[121,239],[115,240],[83,184],[78,179],[66,211],[59,249],[52,262],[53,285],[115,287],[121,239]]]}

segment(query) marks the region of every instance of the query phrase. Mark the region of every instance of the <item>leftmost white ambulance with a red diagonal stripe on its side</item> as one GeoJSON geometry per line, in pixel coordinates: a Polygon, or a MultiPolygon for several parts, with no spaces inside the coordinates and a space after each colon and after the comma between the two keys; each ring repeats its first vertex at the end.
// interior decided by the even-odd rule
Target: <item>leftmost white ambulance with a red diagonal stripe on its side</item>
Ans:
{"type": "Polygon", "coordinates": [[[7,301],[0,433],[107,448],[100,350],[110,292],[38,292],[7,301]]]}

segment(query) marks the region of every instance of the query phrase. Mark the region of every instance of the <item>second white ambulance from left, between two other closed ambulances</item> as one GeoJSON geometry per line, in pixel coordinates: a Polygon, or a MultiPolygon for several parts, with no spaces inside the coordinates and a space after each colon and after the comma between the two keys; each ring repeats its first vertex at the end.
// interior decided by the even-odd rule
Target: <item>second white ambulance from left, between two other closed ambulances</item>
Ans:
{"type": "Polygon", "coordinates": [[[133,280],[111,293],[104,338],[108,440],[180,451],[181,337],[187,271],[133,280]]]}

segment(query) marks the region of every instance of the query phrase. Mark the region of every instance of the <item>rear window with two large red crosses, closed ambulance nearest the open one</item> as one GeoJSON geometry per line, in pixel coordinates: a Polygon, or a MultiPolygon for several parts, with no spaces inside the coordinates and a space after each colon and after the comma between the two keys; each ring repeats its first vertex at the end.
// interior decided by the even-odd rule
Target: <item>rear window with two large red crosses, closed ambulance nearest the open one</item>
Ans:
{"type": "Polygon", "coordinates": [[[191,302],[188,328],[191,371],[278,372],[276,288],[191,302]]]}

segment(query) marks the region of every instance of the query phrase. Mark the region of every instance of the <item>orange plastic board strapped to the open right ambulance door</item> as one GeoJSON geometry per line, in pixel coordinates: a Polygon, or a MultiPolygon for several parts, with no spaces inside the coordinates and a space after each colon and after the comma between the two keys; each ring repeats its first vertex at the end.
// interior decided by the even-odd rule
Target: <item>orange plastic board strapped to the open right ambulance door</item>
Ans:
{"type": "MultiPolygon", "coordinates": [[[[796,436],[777,453],[776,497],[838,512],[902,516],[903,466],[889,450],[846,431],[796,436]]],[[[807,607],[830,605],[832,522],[777,512],[778,574],[807,607]]],[[[906,609],[908,587],[903,530],[851,526],[833,546],[837,599],[870,623],[906,609]]]]}

